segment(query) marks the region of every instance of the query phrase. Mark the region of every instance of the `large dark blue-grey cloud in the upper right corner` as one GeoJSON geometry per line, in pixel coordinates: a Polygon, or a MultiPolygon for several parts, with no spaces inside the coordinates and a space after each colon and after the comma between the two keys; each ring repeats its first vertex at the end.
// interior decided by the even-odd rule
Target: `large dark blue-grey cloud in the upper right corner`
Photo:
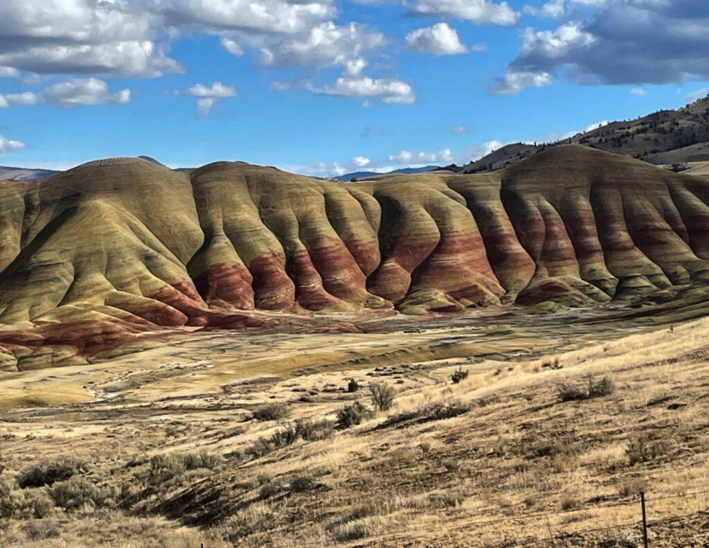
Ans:
{"type": "MultiPolygon", "coordinates": [[[[666,84],[709,79],[709,3],[575,0],[593,8],[554,31],[527,29],[507,72],[579,84],[666,84]]],[[[533,82],[531,83],[533,84],[533,82]]]]}

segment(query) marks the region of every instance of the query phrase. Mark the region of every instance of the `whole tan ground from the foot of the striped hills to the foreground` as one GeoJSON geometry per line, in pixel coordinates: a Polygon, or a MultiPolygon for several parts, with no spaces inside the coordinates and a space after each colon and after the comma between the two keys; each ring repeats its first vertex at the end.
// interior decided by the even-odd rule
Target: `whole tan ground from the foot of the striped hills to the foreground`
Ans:
{"type": "Polygon", "coordinates": [[[653,547],[706,546],[706,312],[213,331],[4,373],[0,546],[631,547],[641,490],[653,547]]]}

